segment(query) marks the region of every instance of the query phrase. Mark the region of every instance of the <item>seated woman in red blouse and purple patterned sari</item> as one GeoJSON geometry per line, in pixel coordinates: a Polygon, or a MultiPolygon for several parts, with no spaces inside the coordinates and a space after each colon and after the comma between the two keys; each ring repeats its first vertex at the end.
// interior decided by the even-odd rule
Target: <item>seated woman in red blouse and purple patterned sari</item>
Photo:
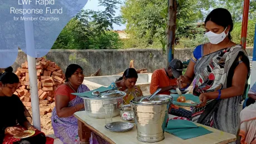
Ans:
{"type": "MultiPolygon", "coordinates": [[[[52,127],[55,136],[63,143],[73,144],[79,142],[77,119],[73,114],[83,110],[84,105],[81,97],[71,93],[90,90],[82,84],[84,75],[81,66],[76,64],[67,66],[65,77],[66,83],[58,87],[55,92],[56,107],[52,111],[52,127]]],[[[81,140],[81,143],[85,141],[81,140]]]]}

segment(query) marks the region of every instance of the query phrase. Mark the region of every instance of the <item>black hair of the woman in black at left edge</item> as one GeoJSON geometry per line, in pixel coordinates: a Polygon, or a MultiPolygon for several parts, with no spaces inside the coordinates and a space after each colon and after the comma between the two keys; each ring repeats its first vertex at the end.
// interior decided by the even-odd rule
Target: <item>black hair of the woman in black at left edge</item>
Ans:
{"type": "Polygon", "coordinates": [[[0,76],[0,81],[2,82],[3,85],[15,84],[15,83],[19,83],[19,78],[16,74],[12,72],[4,72],[0,76]]]}

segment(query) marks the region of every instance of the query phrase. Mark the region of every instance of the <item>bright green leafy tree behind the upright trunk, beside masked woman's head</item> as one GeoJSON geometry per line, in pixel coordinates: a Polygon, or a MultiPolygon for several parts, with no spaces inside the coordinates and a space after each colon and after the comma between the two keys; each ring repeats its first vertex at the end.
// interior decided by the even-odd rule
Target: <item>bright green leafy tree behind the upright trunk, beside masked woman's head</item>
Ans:
{"type": "MultiPolygon", "coordinates": [[[[177,0],[177,2],[176,38],[188,37],[186,31],[190,24],[202,21],[204,12],[209,9],[213,1],[177,0]]],[[[126,0],[121,12],[131,39],[140,39],[146,46],[160,39],[163,45],[168,16],[167,7],[166,0],[126,0]]]]}

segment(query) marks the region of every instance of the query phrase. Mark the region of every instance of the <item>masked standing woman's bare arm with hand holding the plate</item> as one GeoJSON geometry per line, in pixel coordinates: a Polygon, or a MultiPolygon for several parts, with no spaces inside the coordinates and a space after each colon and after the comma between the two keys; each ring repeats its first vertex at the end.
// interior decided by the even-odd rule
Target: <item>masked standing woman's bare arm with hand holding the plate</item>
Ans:
{"type": "MultiPolygon", "coordinates": [[[[234,70],[234,75],[232,79],[232,86],[230,88],[221,90],[220,99],[228,99],[234,96],[240,96],[244,93],[244,87],[247,80],[248,68],[245,63],[238,64],[237,68],[234,70]]],[[[219,91],[203,93],[199,96],[199,99],[203,104],[199,105],[204,106],[207,100],[217,99],[219,96],[219,91]]]]}

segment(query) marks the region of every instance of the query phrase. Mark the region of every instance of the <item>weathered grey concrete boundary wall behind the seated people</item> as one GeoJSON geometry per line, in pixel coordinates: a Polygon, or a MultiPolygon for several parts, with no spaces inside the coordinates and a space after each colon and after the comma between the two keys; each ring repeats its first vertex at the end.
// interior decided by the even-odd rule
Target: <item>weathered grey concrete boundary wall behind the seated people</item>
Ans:
{"type": "MultiPolygon", "coordinates": [[[[252,56],[252,48],[247,52],[252,56]]],[[[190,59],[193,49],[175,49],[174,57],[185,61],[190,59]]],[[[46,58],[54,61],[65,71],[69,64],[81,65],[85,76],[90,76],[101,68],[100,75],[115,75],[129,68],[134,60],[136,69],[146,68],[149,73],[166,66],[166,53],[161,49],[119,49],[119,50],[51,50],[46,58]]],[[[18,58],[12,65],[16,70],[27,60],[27,55],[19,51],[18,58]]]]}

